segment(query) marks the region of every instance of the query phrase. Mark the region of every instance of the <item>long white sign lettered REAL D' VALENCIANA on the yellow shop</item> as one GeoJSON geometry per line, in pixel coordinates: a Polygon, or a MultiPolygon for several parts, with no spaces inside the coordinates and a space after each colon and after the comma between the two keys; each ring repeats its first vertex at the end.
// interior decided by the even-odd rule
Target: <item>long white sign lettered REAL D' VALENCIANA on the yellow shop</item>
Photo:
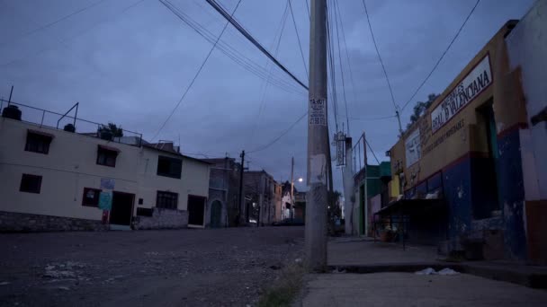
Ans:
{"type": "Polygon", "coordinates": [[[479,96],[492,83],[490,59],[487,55],[466,75],[460,84],[450,92],[431,112],[431,130],[433,133],[444,126],[460,110],[479,96]]]}

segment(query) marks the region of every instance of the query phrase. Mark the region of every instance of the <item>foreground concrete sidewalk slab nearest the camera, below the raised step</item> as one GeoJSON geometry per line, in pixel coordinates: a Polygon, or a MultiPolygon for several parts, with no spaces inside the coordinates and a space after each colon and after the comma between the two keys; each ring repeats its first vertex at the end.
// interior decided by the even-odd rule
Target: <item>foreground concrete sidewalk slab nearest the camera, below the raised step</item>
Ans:
{"type": "Polygon", "coordinates": [[[547,292],[486,278],[411,273],[309,275],[301,306],[545,306],[547,292]]]}

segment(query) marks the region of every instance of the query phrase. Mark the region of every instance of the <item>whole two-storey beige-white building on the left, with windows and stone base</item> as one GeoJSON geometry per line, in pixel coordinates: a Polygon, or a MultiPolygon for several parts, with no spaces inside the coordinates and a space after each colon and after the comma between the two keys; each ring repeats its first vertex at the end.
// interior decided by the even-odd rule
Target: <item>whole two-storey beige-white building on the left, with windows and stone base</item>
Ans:
{"type": "Polygon", "coordinates": [[[0,118],[0,231],[202,227],[208,194],[209,163],[172,144],[0,118]]]}

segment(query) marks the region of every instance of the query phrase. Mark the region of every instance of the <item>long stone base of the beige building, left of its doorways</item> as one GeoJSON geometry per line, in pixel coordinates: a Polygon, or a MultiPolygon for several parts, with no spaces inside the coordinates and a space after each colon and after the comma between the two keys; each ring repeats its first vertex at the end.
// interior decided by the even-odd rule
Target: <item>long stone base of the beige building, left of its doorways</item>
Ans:
{"type": "Polygon", "coordinates": [[[0,211],[0,232],[105,231],[101,221],[0,211]]]}

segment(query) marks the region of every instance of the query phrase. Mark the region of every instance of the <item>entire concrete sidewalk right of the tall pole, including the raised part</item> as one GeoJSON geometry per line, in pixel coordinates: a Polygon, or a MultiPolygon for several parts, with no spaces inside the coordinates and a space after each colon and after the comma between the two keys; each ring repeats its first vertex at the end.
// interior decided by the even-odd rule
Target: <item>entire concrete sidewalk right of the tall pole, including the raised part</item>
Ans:
{"type": "Polygon", "coordinates": [[[331,273],[307,276],[297,305],[547,305],[547,291],[531,288],[547,285],[547,268],[507,262],[446,262],[435,247],[410,245],[403,250],[401,244],[331,238],[328,266],[331,273]],[[469,274],[414,274],[423,268],[453,268],[469,274]]]}

